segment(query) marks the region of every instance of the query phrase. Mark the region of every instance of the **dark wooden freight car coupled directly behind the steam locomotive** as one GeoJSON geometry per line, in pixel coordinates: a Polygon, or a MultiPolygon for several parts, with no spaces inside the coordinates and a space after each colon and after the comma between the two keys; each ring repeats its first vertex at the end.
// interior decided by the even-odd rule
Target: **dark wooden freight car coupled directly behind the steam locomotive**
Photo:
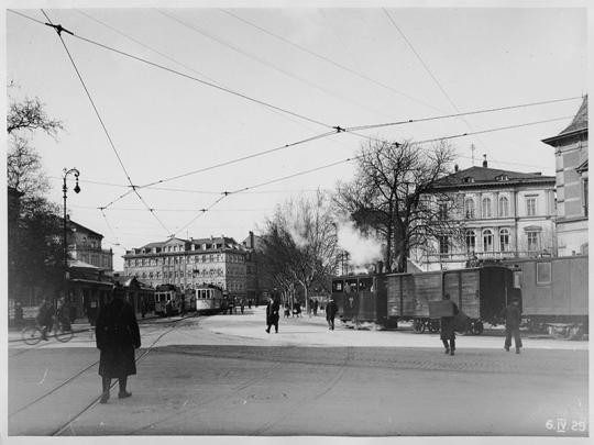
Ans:
{"type": "Polygon", "coordinates": [[[513,278],[512,270],[501,266],[391,274],[386,276],[388,318],[413,320],[417,332],[436,332],[439,320],[429,318],[429,302],[449,293],[451,301],[469,316],[469,331],[481,334],[483,322],[498,321],[507,301],[521,298],[513,278]]]}

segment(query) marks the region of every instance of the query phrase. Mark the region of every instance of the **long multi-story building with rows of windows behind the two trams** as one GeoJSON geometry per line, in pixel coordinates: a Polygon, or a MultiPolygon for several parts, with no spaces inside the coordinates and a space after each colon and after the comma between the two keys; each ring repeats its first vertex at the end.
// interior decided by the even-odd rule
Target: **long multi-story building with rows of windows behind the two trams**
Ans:
{"type": "Polygon", "coordinates": [[[231,237],[174,237],[127,251],[124,275],[153,287],[169,283],[182,290],[211,283],[241,298],[246,297],[249,253],[231,237]]]}

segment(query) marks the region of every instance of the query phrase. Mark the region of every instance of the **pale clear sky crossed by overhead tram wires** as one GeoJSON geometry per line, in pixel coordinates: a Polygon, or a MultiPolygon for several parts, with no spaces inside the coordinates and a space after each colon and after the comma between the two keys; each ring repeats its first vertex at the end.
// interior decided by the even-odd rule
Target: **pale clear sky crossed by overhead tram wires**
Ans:
{"type": "MultiPolygon", "coordinates": [[[[40,9],[14,11],[47,21],[40,9]]],[[[361,135],[425,141],[560,119],[450,140],[460,168],[473,165],[474,153],[474,165],[486,154],[490,167],[554,175],[553,149],[541,140],[571,122],[587,91],[587,15],[580,8],[164,5],[45,12],[75,33],[62,35],[113,146],[57,34],[11,11],[6,12],[8,94],[38,97],[48,115],[63,121],[57,140],[33,138],[51,179],[48,198],[62,203],[64,168],[80,171],[80,193],[68,179],[68,211],[105,236],[117,270],[127,249],[169,235],[224,234],[241,242],[249,231],[257,234],[276,204],[334,189],[337,181],[352,179],[354,163],[224,192],[351,158],[366,141],[361,135]],[[332,126],[565,98],[578,99],[359,135],[341,132],[197,171],[332,126]],[[119,199],[130,183],[156,181],[163,182],[136,189],[144,203],[133,192],[119,199]]]]}

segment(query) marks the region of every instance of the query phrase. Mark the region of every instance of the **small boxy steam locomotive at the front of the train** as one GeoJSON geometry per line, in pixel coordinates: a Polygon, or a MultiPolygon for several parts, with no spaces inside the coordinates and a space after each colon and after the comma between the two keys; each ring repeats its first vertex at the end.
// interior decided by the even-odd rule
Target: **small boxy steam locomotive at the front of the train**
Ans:
{"type": "Polygon", "coordinates": [[[332,298],[343,321],[387,323],[386,286],[383,275],[338,277],[332,280],[332,298]]]}

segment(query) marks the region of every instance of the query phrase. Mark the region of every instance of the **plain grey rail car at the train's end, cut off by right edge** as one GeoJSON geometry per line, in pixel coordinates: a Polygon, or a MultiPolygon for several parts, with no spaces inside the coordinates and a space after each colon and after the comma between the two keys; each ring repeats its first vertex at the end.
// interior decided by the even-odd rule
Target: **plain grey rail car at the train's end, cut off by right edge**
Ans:
{"type": "Polygon", "coordinates": [[[503,264],[521,290],[522,318],[531,330],[566,337],[587,333],[587,256],[516,258],[503,264]]]}

